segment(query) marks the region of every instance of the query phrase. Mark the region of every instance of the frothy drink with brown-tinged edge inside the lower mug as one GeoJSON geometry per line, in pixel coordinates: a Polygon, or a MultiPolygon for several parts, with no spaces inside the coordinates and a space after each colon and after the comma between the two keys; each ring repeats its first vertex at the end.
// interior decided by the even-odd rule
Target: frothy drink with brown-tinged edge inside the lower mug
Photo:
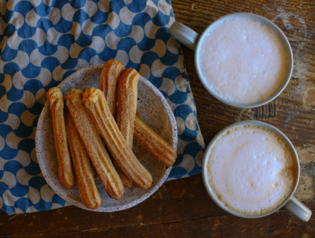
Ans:
{"type": "Polygon", "coordinates": [[[216,140],[209,184],[226,207],[246,216],[268,214],[290,196],[297,162],[287,142],[265,127],[239,125],[216,140]]]}

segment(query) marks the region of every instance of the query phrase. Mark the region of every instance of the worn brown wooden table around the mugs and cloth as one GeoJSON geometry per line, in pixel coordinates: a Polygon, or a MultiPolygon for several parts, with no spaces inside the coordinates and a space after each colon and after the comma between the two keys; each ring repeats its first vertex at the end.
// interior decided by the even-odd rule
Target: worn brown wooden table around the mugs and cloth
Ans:
{"type": "MultiPolygon", "coordinates": [[[[222,15],[251,12],[278,25],[293,48],[294,71],[273,102],[255,109],[235,109],[218,102],[197,79],[193,51],[183,48],[206,144],[239,120],[262,120],[278,127],[300,156],[300,183],[295,196],[314,213],[315,41],[314,1],[173,0],[174,15],[201,33],[222,15]]],[[[0,237],[314,237],[315,218],[304,223],[281,209],[271,216],[243,219],[227,214],[209,198],[202,176],[165,183],[148,200],[111,214],[65,207],[8,216],[0,212],[0,237]]]]}

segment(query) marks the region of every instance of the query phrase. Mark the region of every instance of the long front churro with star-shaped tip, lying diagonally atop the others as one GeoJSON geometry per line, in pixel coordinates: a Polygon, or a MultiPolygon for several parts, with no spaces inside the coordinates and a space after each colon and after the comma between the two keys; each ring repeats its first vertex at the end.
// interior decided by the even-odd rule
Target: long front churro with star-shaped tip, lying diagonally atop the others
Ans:
{"type": "Polygon", "coordinates": [[[111,155],[113,155],[114,160],[116,160],[120,168],[123,169],[128,179],[139,188],[150,188],[152,176],[141,165],[118,129],[116,121],[106,103],[104,93],[93,87],[85,90],[83,104],[93,118],[94,124],[97,125],[97,129],[106,142],[111,155]]]}

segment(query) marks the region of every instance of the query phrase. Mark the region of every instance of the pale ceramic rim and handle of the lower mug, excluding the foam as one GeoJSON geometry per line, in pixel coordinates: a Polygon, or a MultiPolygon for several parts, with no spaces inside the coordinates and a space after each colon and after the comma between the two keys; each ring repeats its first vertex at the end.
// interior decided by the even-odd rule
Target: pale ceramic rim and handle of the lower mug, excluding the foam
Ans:
{"type": "MultiPolygon", "coordinates": [[[[242,132],[242,133],[244,133],[244,132],[242,132]]],[[[220,154],[220,156],[221,155],[222,154],[220,154]]],[[[222,155],[222,157],[220,157],[220,160],[223,160],[223,157],[224,156],[222,155]]],[[[236,155],[235,155],[235,158],[236,158],[236,155]]],[[[235,159],[235,158],[232,158],[232,160],[235,159]]],[[[241,166],[243,166],[243,165],[241,165],[241,166]]],[[[248,168],[246,168],[246,169],[248,169],[248,168]]],[[[259,169],[261,169],[261,167],[259,167],[259,169]]],[[[228,211],[232,215],[239,216],[241,218],[260,218],[262,216],[267,216],[269,214],[273,214],[274,212],[278,211],[281,207],[284,207],[284,208],[288,209],[288,211],[293,213],[295,216],[297,216],[297,218],[300,218],[302,221],[309,221],[309,219],[311,218],[311,210],[308,209],[304,204],[302,204],[299,200],[297,200],[293,196],[293,193],[295,192],[295,189],[297,188],[298,180],[300,178],[300,164],[299,164],[299,160],[298,160],[295,148],[294,148],[293,144],[290,142],[290,140],[288,139],[288,137],[286,137],[286,135],[283,134],[283,132],[281,132],[276,127],[273,127],[272,125],[269,125],[267,123],[262,123],[260,121],[255,121],[255,120],[246,120],[246,121],[242,121],[240,123],[232,124],[232,125],[226,127],[221,132],[219,132],[216,135],[216,137],[214,137],[214,139],[212,139],[212,141],[209,143],[209,146],[207,147],[207,150],[204,153],[204,160],[203,160],[203,164],[202,164],[202,176],[203,176],[204,186],[206,187],[207,192],[208,192],[209,196],[211,197],[211,199],[214,200],[214,202],[219,207],[221,207],[221,209],[223,209],[225,211],[228,211]],[[290,150],[290,155],[292,157],[290,161],[295,162],[294,175],[293,175],[295,180],[293,180],[293,182],[292,182],[293,186],[289,186],[290,190],[288,190],[289,193],[286,196],[285,200],[279,200],[279,202],[281,202],[281,201],[282,202],[280,204],[278,203],[277,205],[275,205],[276,207],[272,207],[271,211],[267,210],[267,212],[265,214],[259,214],[259,215],[255,215],[255,214],[251,214],[251,215],[246,214],[246,215],[244,215],[244,213],[241,213],[239,211],[235,211],[235,209],[231,209],[231,207],[229,207],[227,205],[226,201],[223,202],[223,197],[221,195],[220,195],[221,197],[218,196],[218,193],[215,192],[214,185],[211,183],[211,181],[209,181],[209,179],[211,179],[211,176],[214,176],[214,174],[211,174],[211,172],[209,172],[209,166],[211,165],[211,164],[209,164],[210,163],[209,160],[211,160],[210,159],[211,156],[214,156],[214,155],[212,155],[212,153],[214,153],[214,148],[217,146],[216,142],[218,140],[222,139],[222,137],[224,137],[227,134],[227,132],[228,133],[233,133],[233,130],[235,128],[241,128],[241,130],[243,130],[242,128],[248,127],[248,126],[249,127],[253,127],[253,128],[257,128],[258,127],[258,128],[265,129],[266,131],[274,133],[276,135],[276,137],[279,137],[280,139],[282,139],[284,141],[284,143],[287,145],[287,148],[290,150]],[[209,174],[211,174],[211,176],[209,176],[209,174]]],[[[227,173],[224,176],[230,177],[230,178],[232,178],[234,180],[236,178],[236,176],[233,176],[233,174],[231,174],[231,173],[227,173]]],[[[246,178],[249,178],[249,176],[246,177],[246,178]]],[[[268,176],[266,176],[266,178],[269,179],[268,176]]],[[[267,183],[267,181],[265,181],[265,182],[267,183]]],[[[278,180],[276,180],[276,183],[278,183],[278,180]]],[[[229,184],[229,183],[225,183],[225,184],[229,184]]],[[[255,188],[255,189],[258,189],[258,188],[255,188]]],[[[245,190],[246,189],[241,190],[241,193],[245,194],[245,190]]],[[[237,191],[239,191],[239,190],[237,190],[237,191]]],[[[248,195],[246,195],[246,197],[247,196],[248,195]]],[[[255,204],[255,202],[253,202],[253,203],[255,204]]]]}

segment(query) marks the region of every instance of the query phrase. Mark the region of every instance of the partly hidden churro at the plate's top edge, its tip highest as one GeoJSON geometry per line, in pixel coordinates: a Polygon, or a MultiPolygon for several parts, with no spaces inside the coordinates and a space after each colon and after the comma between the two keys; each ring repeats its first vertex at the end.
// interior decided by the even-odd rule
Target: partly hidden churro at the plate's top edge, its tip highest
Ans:
{"type": "Polygon", "coordinates": [[[105,62],[99,78],[99,89],[105,94],[111,114],[116,116],[116,95],[118,78],[124,70],[124,64],[118,59],[109,59],[105,62]]]}

